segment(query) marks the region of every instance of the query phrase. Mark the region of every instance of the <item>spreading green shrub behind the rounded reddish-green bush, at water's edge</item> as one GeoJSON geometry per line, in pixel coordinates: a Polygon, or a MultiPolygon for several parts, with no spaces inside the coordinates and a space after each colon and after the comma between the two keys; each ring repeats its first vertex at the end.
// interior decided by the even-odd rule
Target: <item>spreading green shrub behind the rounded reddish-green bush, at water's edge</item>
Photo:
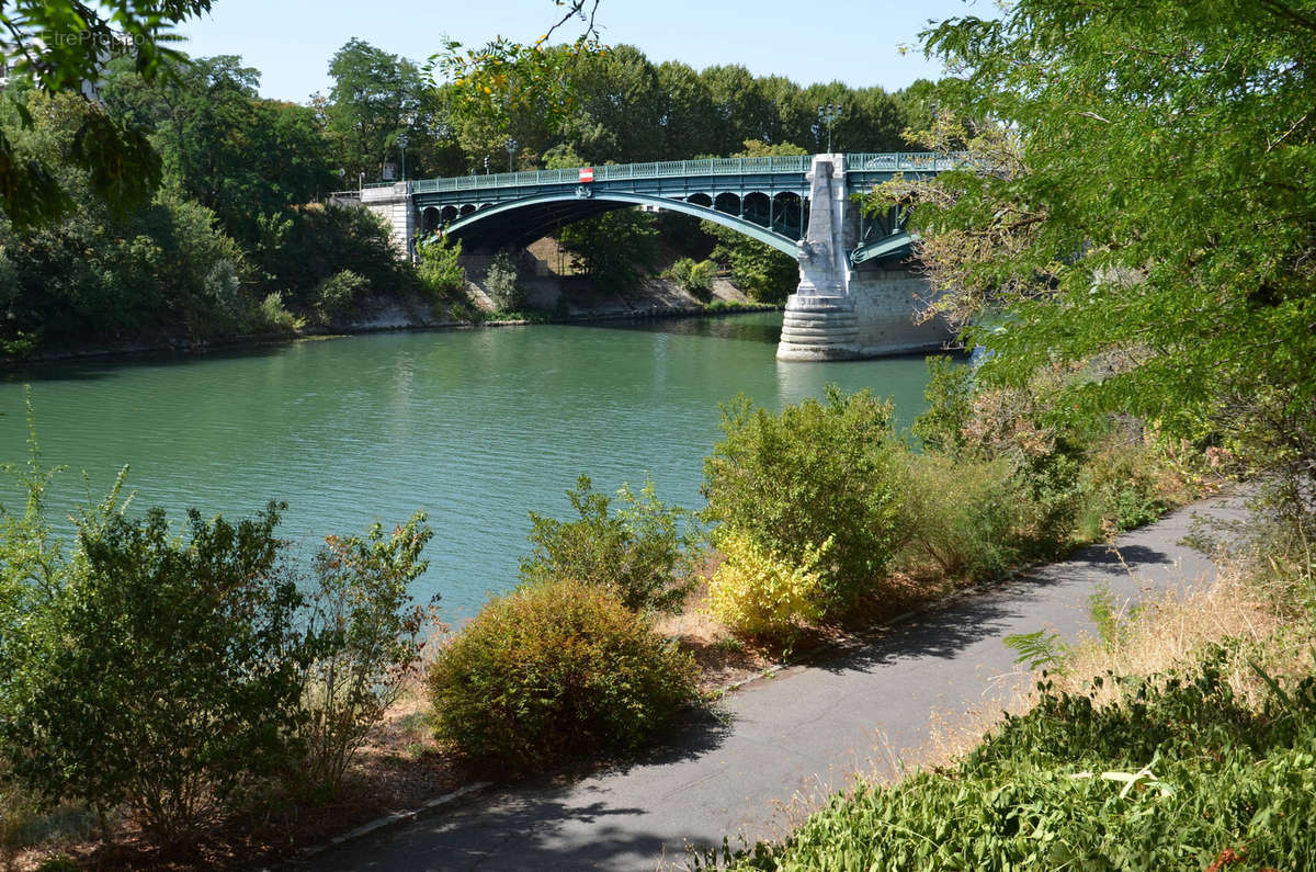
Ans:
{"type": "Polygon", "coordinates": [[[638,497],[622,485],[616,511],[607,495],[592,490],[588,476],[580,476],[567,498],[579,520],[530,512],[534,551],[521,561],[524,580],[588,582],[637,611],[680,609],[695,584],[692,543],[682,531],[684,510],[659,502],[651,481],[638,497]]]}

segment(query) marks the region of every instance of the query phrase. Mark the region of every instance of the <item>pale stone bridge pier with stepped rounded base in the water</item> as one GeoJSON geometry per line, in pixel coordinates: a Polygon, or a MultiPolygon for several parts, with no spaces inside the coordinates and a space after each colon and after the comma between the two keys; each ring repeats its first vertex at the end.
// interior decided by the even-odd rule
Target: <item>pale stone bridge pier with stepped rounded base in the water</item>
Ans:
{"type": "Polygon", "coordinates": [[[786,302],[776,360],[859,360],[945,346],[951,333],[944,323],[913,323],[917,300],[932,292],[925,279],[899,263],[850,262],[861,207],[849,199],[845,155],[815,155],[808,179],[800,285],[786,302]]]}

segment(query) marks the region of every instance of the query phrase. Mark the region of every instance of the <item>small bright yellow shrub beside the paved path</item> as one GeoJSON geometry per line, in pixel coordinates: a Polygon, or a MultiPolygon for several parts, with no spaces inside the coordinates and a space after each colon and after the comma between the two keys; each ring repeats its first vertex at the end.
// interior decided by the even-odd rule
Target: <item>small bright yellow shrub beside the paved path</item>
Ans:
{"type": "Polygon", "coordinates": [[[808,545],[792,565],[744,533],[726,533],[719,543],[725,560],[708,580],[708,610],[738,634],[788,640],[822,616],[817,565],[830,548],[830,539],[808,545]]]}

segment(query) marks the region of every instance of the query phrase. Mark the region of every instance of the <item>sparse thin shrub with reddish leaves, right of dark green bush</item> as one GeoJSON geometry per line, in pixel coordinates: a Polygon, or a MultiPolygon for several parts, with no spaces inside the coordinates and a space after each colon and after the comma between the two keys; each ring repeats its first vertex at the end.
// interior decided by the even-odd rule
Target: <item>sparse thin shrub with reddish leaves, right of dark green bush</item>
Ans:
{"type": "Polygon", "coordinates": [[[416,512],[388,537],[379,524],[365,537],[329,536],[315,557],[301,738],[305,775],[330,796],[420,659],[430,613],[412,605],[408,586],[429,565],[420,555],[432,536],[416,512]]]}

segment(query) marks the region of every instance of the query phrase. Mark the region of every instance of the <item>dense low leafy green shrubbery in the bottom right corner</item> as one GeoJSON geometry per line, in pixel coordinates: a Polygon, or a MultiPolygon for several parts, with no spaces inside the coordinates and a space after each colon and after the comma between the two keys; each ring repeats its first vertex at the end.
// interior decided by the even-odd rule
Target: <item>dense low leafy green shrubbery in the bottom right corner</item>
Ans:
{"type": "Polygon", "coordinates": [[[1316,680],[1277,682],[1261,713],[1217,655],[1195,673],[1107,681],[1123,690],[1109,705],[1044,685],[955,765],[861,784],[717,868],[1309,868],[1316,680]]]}

